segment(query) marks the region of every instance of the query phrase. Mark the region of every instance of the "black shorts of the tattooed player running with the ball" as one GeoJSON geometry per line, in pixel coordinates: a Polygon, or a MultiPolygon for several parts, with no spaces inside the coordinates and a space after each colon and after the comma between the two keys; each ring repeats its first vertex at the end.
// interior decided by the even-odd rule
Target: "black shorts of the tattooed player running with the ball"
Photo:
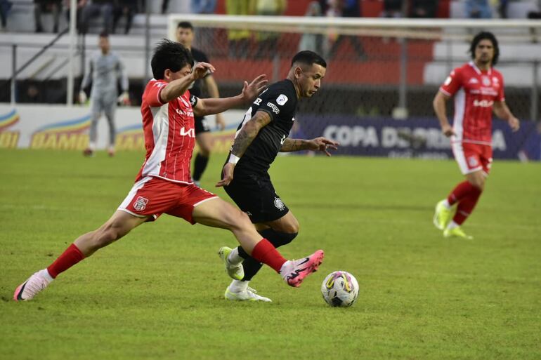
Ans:
{"type": "Polygon", "coordinates": [[[268,174],[235,173],[233,181],[224,189],[254,224],[280,219],[289,211],[274,191],[268,174]]]}

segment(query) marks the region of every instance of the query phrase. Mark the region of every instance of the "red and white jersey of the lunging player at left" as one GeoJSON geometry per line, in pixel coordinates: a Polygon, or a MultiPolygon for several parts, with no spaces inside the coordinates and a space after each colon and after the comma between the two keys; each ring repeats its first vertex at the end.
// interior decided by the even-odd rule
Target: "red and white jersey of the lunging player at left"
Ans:
{"type": "Polygon", "coordinates": [[[163,103],[159,98],[166,81],[152,79],[143,93],[141,115],[145,135],[145,162],[136,181],[153,176],[172,182],[192,183],[190,160],[195,146],[195,96],[186,91],[163,103]]]}

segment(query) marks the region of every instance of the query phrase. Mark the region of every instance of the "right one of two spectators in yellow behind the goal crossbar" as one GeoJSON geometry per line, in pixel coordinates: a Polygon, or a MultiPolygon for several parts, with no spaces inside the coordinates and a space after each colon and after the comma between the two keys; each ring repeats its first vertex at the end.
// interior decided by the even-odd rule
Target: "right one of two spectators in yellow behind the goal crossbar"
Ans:
{"type": "MultiPolygon", "coordinates": [[[[285,13],[286,0],[256,0],[256,15],[276,16],[285,13]]],[[[256,32],[256,58],[272,58],[280,39],[278,32],[256,32]]]]}

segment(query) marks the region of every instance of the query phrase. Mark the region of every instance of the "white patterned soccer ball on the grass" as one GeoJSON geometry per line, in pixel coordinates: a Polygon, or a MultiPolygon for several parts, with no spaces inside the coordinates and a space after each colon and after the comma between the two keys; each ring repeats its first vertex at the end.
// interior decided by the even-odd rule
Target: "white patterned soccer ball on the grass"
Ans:
{"type": "Polygon", "coordinates": [[[359,284],[355,276],[348,272],[331,272],[321,284],[321,294],[332,307],[348,307],[357,300],[359,284]]]}

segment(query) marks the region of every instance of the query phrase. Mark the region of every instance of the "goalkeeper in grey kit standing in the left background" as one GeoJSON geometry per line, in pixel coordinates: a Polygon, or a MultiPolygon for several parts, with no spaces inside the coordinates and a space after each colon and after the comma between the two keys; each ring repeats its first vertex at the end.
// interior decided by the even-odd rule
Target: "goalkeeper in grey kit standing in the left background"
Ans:
{"type": "Polygon", "coordinates": [[[83,89],[87,88],[92,82],[90,93],[90,140],[89,147],[84,150],[83,154],[92,156],[93,152],[96,151],[98,120],[101,114],[105,113],[107,123],[109,124],[107,152],[109,156],[113,156],[115,155],[115,111],[117,109],[117,101],[122,102],[124,105],[129,105],[129,82],[122,61],[118,55],[110,51],[109,36],[107,34],[100,34],[98,45],[100,52],[91,57],[81,84],[81,91],[79,91],[79,103],[84,104],[87,98],[83,89]],[[117,79],[119,78],[122,87],[121,95],[117,91],[117,79]]]}

